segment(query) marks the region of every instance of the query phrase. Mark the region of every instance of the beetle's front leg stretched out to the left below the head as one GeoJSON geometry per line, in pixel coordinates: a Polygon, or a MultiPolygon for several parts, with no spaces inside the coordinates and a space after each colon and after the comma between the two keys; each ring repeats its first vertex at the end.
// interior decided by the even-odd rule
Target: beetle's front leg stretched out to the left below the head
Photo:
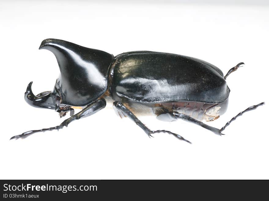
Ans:
{"type": "Polygon", "coordinates": [[[74,120],[78,120],[80,118],[88,117],[88,116],[98,112],[100,109],[105,108],[105,106],[106,106],[105,99],[98,99],[97,101],[91,103],[90,105],[88,105],[87,107],[85,107],[83,110],[76,113],[72,117],[64,120],[59,126],[50,127],[50,128],[43,128],[43,129],[40,129],[40,130],[27,131],[27,132],[24,132],[23,134],[15,135],[10,139],[26,138],[29,135],[32,135],[32,134],[37,133],[37,132],[59,130],[59,129],[63,128],[64,126],[67,127],[68,124],[70,124],[74,120]]]}

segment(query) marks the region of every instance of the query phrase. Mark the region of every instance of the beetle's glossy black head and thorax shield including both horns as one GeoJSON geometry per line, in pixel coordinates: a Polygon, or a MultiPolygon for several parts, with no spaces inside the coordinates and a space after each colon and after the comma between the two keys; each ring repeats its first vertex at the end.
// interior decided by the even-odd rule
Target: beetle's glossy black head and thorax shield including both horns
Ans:
{"type": "Polygon", "coordinates": [[[56,110],[61,105],[86,106],[107,90],[113,55],[59,39],[46,39],[39,49],[50,50],[55,55],[60,76],[53,91],[37,96],[32,93],[30,82],[25,100],[31,106],[56,110]]]}

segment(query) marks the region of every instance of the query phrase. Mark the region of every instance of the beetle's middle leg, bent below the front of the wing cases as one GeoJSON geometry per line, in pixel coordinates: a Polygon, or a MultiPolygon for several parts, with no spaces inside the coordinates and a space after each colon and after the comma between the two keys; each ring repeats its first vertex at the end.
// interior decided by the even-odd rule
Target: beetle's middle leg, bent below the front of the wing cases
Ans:
{"type": "Polygon", "coordinates": [[[145,131],[145,133],[149,136],[149,137],[153,137],[152,134],[154,133],[168,133],[171,134],[173,136],[175,136],[176,138],[183,140],[185,142],[188,142],[191,144],[190,141],[186,140],[185,138],[183,138],[182,136],[173,133],[171,131],[166,131],[166,130],[158,130],[158,131],[151,131],[148,127],[146,127],[145,124],[143,124],[135,115],[134,113],[131,112],[131,110],[127,109],[123,103],[115,101],[113,102],[113,106],[116,107],[116,109],[118,109],[120,112],[122,112],[123,114],[125,114],[127,117],[129,117],[131,120],[133,120],[140,128],[143,129],[143,131],[145,131]]]}

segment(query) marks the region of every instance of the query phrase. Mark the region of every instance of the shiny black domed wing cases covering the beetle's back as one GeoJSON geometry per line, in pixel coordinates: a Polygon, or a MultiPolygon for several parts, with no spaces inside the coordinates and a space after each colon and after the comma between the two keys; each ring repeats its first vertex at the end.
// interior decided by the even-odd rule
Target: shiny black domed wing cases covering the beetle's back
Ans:
{"type": "Polygon", "coordinates": [[[216,66],[162,52],[127,52],[116,57],[112,92],[134,102],[219,103],[230,89],[216,66]]]}

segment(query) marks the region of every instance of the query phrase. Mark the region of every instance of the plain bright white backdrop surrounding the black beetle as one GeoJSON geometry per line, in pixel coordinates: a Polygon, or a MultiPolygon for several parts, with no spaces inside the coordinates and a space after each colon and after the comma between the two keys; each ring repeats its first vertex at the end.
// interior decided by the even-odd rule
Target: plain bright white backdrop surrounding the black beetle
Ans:
{"type": "Polygon", "coordinates": [[[0,179],[269,179],[268,3],[164,2],[1,1],[0,179]],[[38,50],[46,38],[113,55],[152,50],[192,56],[224,74],[245,62],[227,78],[229,108],[208,123],[214,127],[249,106],[267,104],[239,117],[223,137],[181,120],[140,118],[152,130],[176,132],[192,145],[168,134],[150,139],[110,105],[61,131],[9,141],[68,117],[24,101],[30,81],[38,94],[51,90],[58,77],[54,55],[38,50]]]}

